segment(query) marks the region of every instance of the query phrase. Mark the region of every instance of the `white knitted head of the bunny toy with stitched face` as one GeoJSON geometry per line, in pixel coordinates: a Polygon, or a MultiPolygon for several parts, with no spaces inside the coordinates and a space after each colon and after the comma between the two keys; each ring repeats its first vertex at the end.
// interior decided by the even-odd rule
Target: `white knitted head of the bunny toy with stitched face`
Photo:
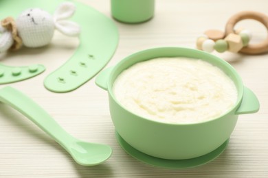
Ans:
{"type": "Polygon", "coordinates": [[[16,27],[25,47],[43,47],[49,44],[54,34],[52,15],[38,8],[25,10],[19,15],[16,27]]]}

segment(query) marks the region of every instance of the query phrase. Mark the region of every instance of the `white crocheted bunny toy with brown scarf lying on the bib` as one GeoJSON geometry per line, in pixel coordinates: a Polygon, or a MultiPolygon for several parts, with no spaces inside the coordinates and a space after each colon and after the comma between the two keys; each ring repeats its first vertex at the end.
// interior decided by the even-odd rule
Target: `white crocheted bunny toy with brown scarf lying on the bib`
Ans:
{"type": "Polygon", "coordinates": [[[25,10],[16,21],[12,17],[5,18],[0,25],[0,53],[8,49],[25,47],[43,47],[52,40],[54,29],[67,36],[78,36],[80,27],[71,17],[76,10],[73,3],[65,2],[59,5],[52,16],[39,8],[25,10]]]}

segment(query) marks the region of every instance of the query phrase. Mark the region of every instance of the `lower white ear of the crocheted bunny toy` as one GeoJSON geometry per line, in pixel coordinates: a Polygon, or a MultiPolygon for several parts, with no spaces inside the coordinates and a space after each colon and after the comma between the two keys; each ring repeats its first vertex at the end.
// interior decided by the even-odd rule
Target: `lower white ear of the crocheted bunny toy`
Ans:
{"type": "Polygon", "coordinates": [[[55,26],[58,31],[67,36],[78,36],[80,34],[79,25],[71,21],[58,21],[55,26]]]}

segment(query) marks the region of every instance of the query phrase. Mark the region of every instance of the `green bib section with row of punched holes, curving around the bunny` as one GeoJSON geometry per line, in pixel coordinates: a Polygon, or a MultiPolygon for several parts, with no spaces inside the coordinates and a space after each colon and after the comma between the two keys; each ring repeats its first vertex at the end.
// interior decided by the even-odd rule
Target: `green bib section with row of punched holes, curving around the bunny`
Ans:
{"type": "MultiPolygon", "coordinates": [[[[52,92],[70,92],[85,84],[104,68],[118,47],[118,28],[110,18],[89,5],[75,0],[69,1],[76,5],[76,12],[70,20],[80,25],[80,44],[65,64],[45,77],[45,88],[52,92]]],[[[0,20],[7,16],[16,18],[29,8],[41,8],[54,14],[58,5],[63,2],[65,1],[1,0],[0,20]]]]}

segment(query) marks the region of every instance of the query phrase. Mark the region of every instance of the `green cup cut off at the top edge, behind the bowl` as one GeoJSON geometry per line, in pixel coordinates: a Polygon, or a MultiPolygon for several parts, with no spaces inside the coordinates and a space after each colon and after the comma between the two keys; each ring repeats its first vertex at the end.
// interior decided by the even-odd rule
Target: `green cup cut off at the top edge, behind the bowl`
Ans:
{"type": "Polygon", "coordinates": [[[123,23],[142,23],[153,18],[155,0],[111,0],[113,18],[123,23]]]}

